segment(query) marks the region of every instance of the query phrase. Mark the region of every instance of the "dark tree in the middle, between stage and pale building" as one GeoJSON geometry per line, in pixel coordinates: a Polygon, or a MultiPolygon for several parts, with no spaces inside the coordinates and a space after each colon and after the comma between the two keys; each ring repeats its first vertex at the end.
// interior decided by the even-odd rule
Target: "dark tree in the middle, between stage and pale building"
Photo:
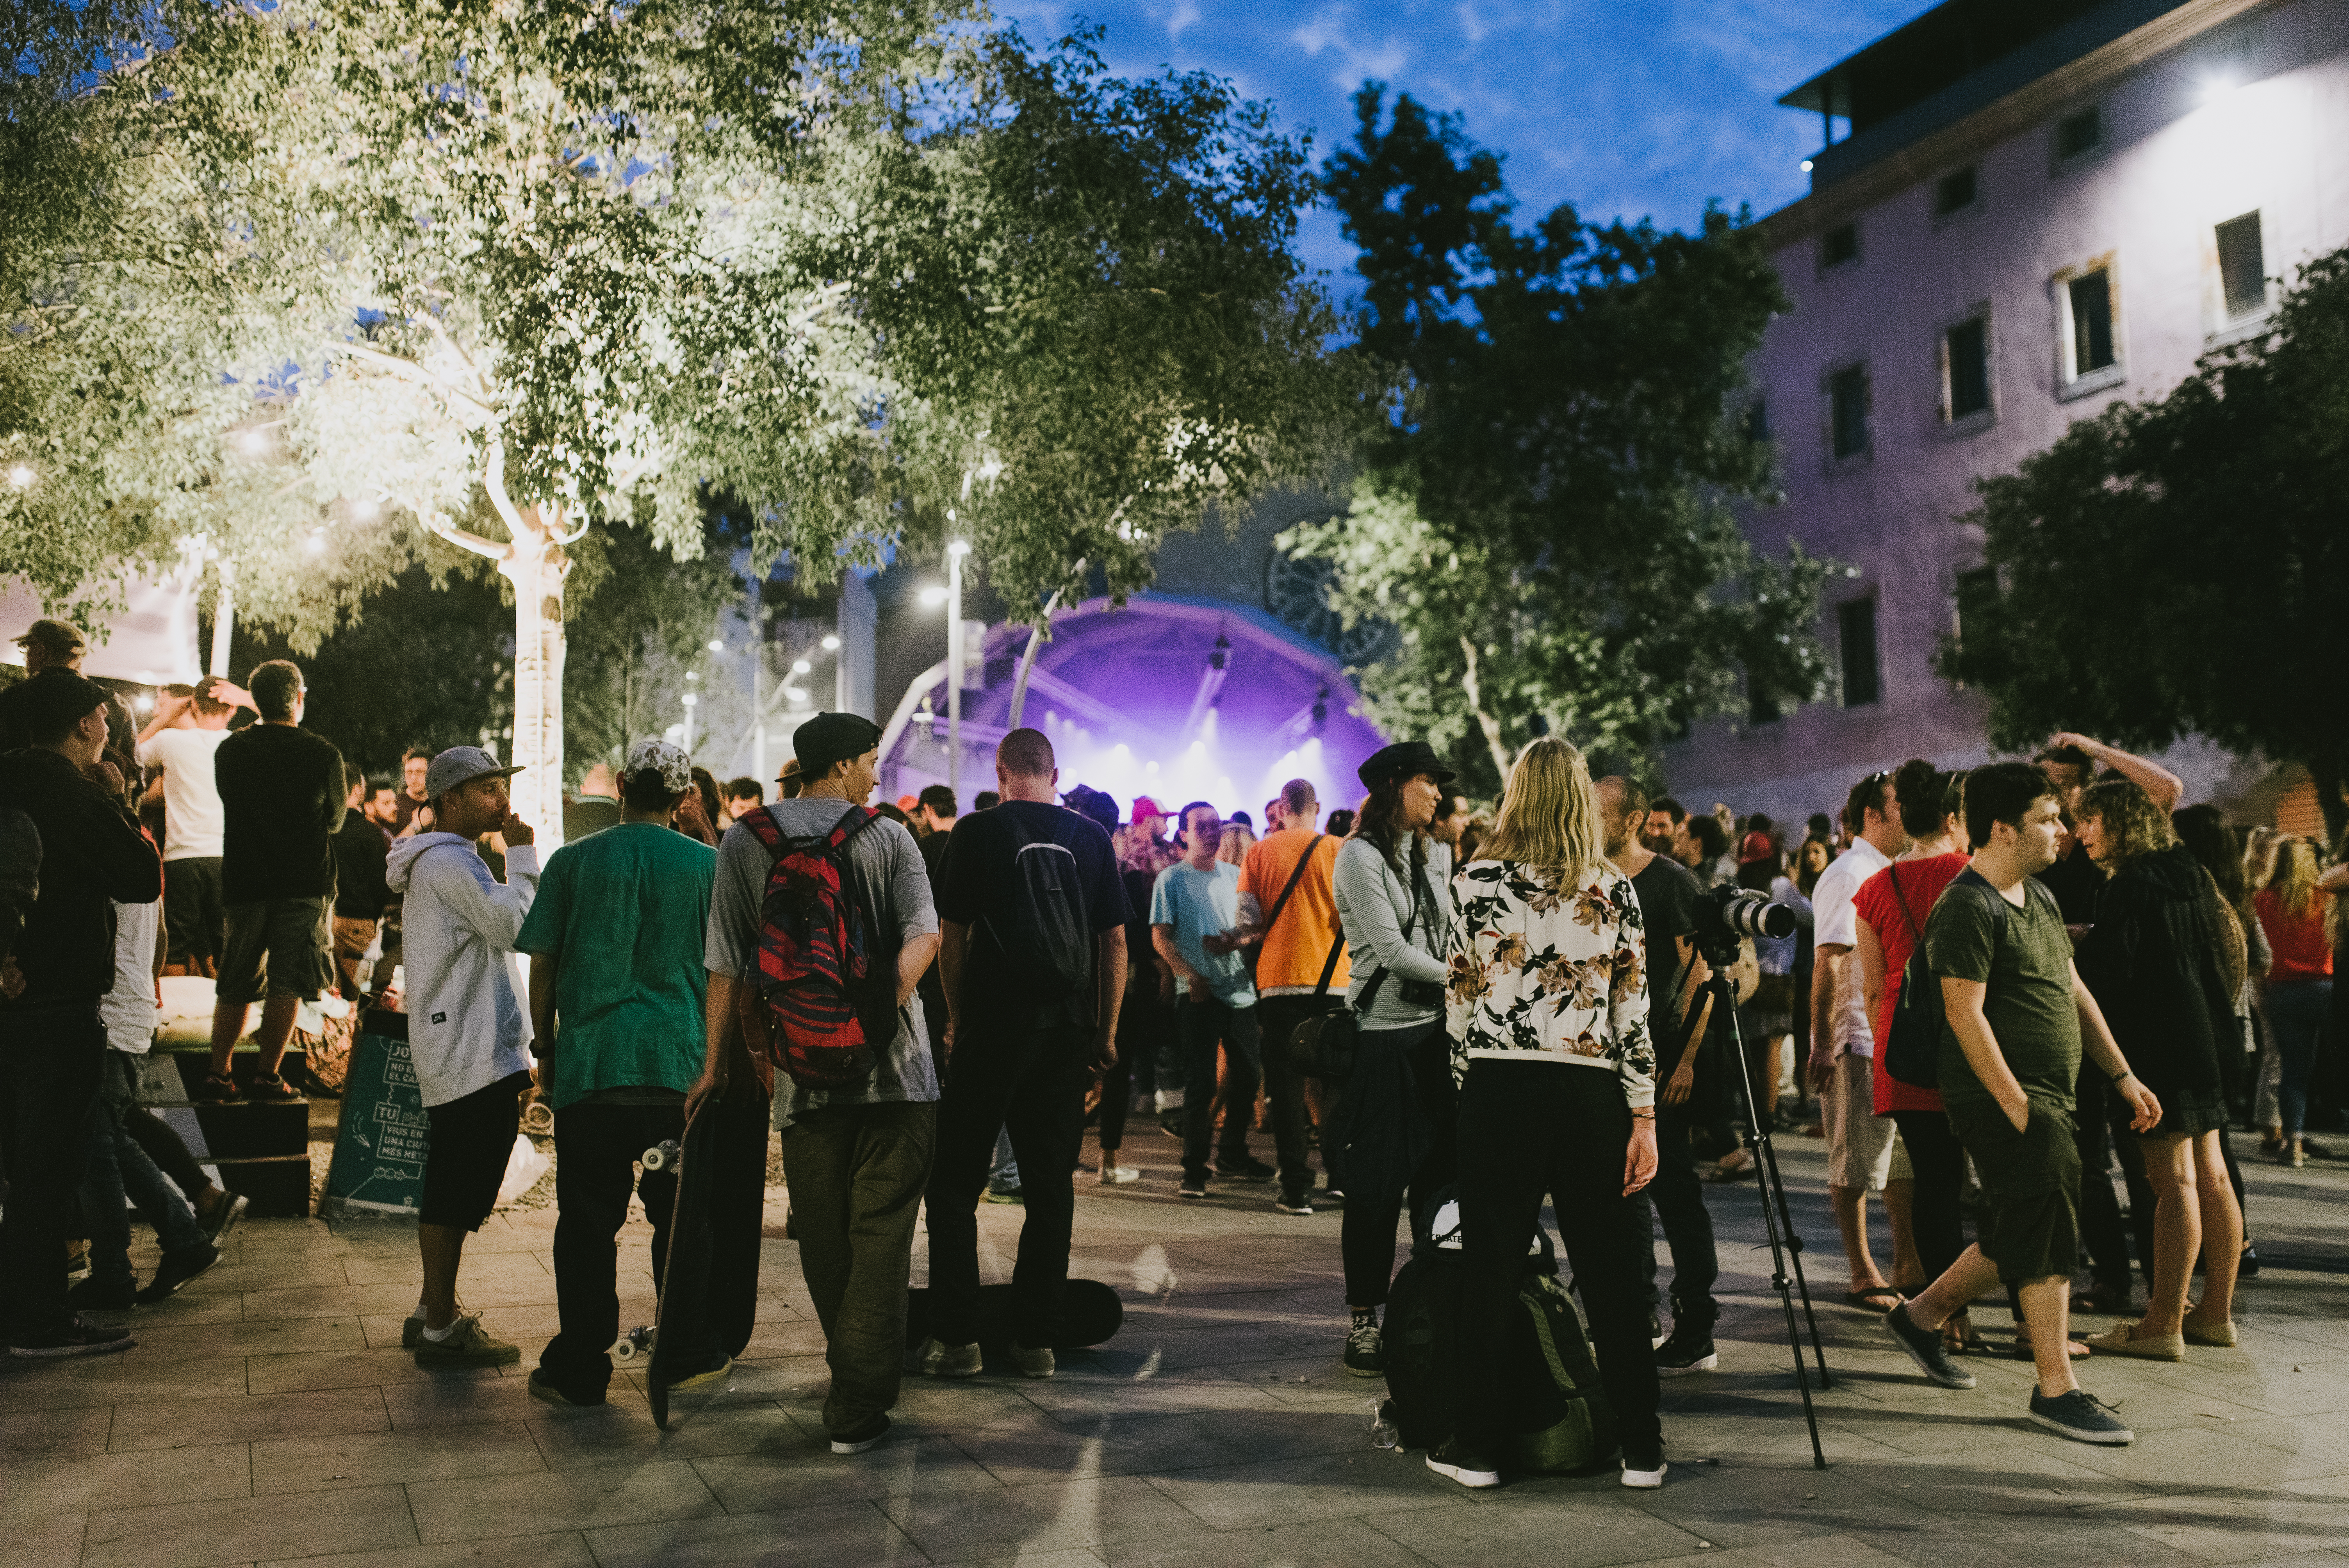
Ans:
{"type": "Polygon", "coordinates": [[[1517,230],[1501,157],[1456,115],[1388,110],[1377,82],[1355,113],[1322,178],[1360,246],[1362,345],[1402,392],[1351,514],[1285,547],[1337,563],[1351,620],[1400,629],[1360,671],[1381,723],[1492,786],[1532,735],[1640,751],[1741,690],[1816,695],[1825,568],[1757,559],[1729,512],[1771,491],[1729,418],[1783,307],[1752,232],[1571,207],[1517,230]]]}

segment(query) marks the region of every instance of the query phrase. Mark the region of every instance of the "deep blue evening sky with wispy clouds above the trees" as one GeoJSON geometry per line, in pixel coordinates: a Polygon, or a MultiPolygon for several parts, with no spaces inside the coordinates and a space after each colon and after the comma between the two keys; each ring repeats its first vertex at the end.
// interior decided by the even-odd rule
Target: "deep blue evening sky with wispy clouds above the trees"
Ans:
{"type": "MultiPolygon", "coordinates": [[[[1520,221],[1574,202],[1588,218],[1696,223],[1708,197],[1766,214],[1806,188],[1818,120],[1776,99],[1931,0],[996,0],[1029,40],[1076,16],[1109,28],[1125,75],[1174,66],[1231,77],[1313,127],[1315,155],[1351,138],[1348,94],[1379,77],[1508,155],[1520,221]]],[[[1353,265],[1330,214],[1306,256],[1353,265]]],[[[1332,279],[1341,291],[1344,277],[1332,279]]]]}

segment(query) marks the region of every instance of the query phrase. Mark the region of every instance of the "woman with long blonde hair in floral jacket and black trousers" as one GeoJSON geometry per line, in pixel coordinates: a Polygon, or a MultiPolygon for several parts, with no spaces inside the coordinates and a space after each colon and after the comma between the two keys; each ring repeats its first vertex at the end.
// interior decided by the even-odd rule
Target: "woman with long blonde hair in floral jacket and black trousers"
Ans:
{"type": "Polygon", "coordinates": [[[1600,852],[1590,768],[1564,739],[1517,758],[1480,859],[1452,878],[1447,1023],[1459,1077],[1461,1430],[1428,1467],[1494,1486],[1508,1411],[1508,1319],[1541,1199],[1574,1263],[1623,1486],[1663,1486],[1656,1357],[1635,1202],[1656,1174],[1656,1047],[1640,897],[1600,852]]]}

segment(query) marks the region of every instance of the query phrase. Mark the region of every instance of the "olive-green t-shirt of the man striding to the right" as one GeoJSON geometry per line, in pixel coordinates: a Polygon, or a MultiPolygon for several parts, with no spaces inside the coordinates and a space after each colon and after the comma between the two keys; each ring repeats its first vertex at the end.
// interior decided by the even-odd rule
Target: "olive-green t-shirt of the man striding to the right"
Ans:
{"type": "MultiPolygon", "coordinates": [[[[1959,871],[1924,922],[1926,962],[1940,976],[1987,981],[1983,1016],[2022,1094],[2069,1110],[2079,1077],[2079,1005],[2062,911],[2032,878],[2022,878],[2022,908],[2006,904],[2001,920],[1994,904],[2006,904],[1997,887],[1973,869],[1959,871]]],[[[1952,1110],[1994,1103],[1947,1023],[1940,1028],[1940,1096],[1952,1110]]]]}

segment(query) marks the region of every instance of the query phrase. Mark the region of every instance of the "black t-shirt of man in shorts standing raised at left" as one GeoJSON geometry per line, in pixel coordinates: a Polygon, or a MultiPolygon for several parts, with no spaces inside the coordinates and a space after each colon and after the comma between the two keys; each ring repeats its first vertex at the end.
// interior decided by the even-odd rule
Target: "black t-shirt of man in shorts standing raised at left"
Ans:
{"type": "Polygon", "coordinates": [[[221,786],[221,901],[331,899],[343,826],[343,753],[282,723],[256,723],[211,756],[221,786]]]}

